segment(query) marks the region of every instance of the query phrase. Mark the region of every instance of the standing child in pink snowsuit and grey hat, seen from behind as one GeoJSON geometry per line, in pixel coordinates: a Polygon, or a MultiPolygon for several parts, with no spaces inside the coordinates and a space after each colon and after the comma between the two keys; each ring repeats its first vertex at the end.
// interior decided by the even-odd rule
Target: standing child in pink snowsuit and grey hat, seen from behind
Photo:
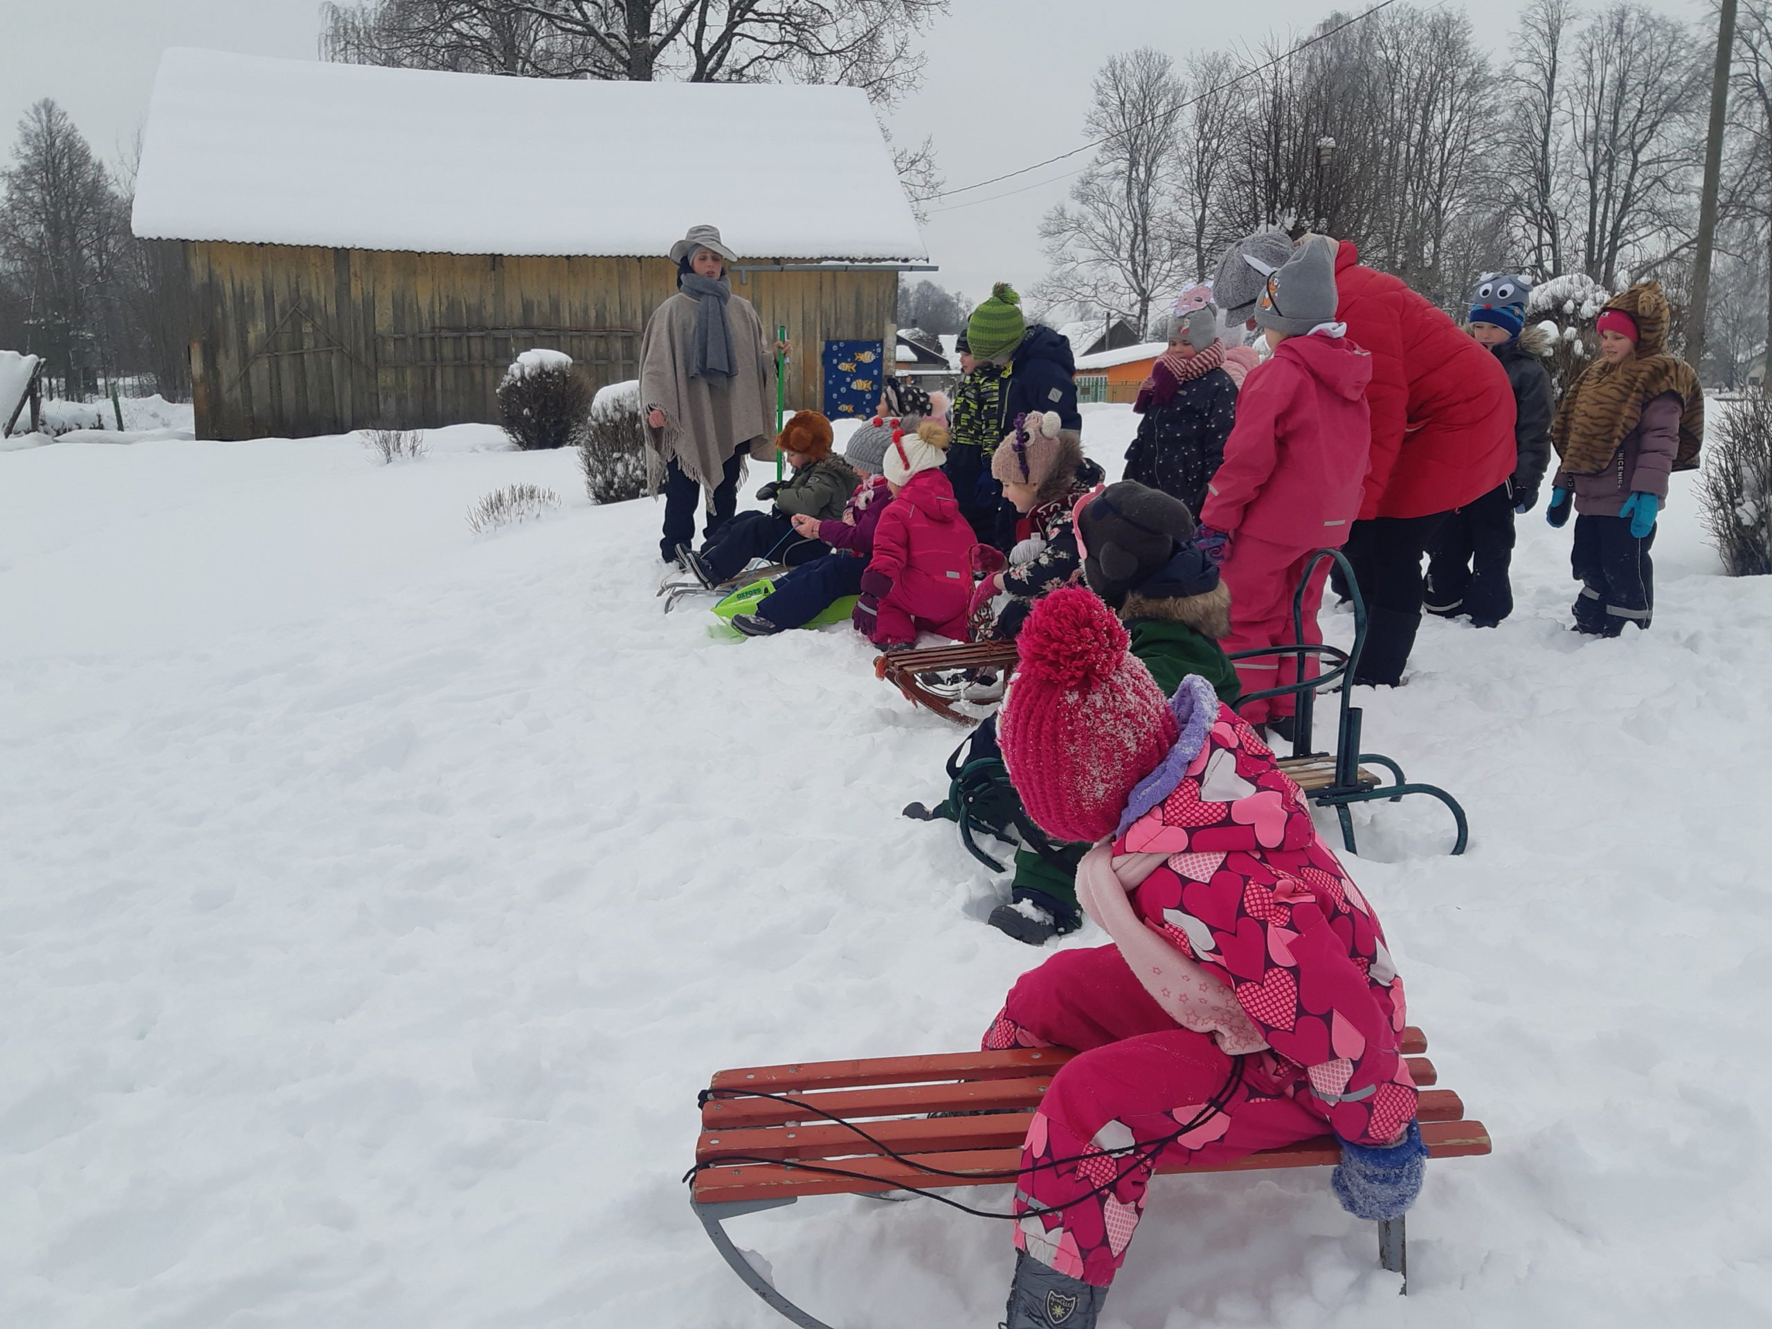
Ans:
{"type": "MultiPolygon", "coordinates": [[[[1359,516],[1372,439],[1366,383],[1372,356],[1334,323],[1334,245],[1311,239],[1267,278],[1255,321],[1274,358],[1249,372],[1237,397],[1237,424],[1224,439],[1224,462],[1207,486],[1201,544],[1223,533],[1230,587],[1224,650],[1290,643],[1292,595],[1304,563],[1322,548],[1347,542],[1359,516]]],[[[1304,595],[1304,641],[1318,643],[1324,563],[1304,595]]],[[[1304,663],[1304,677],[1315,677],[1304,663]]],[[[1285,688],[1299,679],[1297,656],[1237,661],[1244,693],[1285,688]]],[[[1253,725],[1271,723],[1290,737],[1295,698],[1244,703],[1253,725]],[[1278,723],[1276,723],[1278,721],[1278,723]]]]}

